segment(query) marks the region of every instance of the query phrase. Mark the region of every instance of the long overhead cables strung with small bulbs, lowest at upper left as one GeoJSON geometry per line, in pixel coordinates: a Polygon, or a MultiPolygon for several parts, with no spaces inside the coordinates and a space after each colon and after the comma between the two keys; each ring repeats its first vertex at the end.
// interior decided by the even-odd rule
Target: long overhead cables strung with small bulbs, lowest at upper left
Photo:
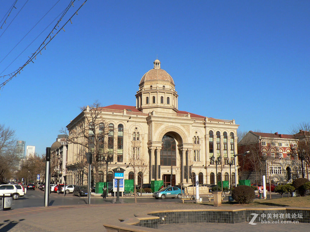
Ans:
{"type": "MultiPolygon", "coordinates": [[[[75,1],[75,0],[74,0],[74,1],[75,1]]],[[[30,62],[33,62],[33,59],[36,59],[36,56],[37,56],[38,54],[42,54],[41,51],[42,51],[43,49],[46,49],[46,45],[48,45],[48,44],[52,41],[52,39],[55,38],[55,36],[58,34],[58,32],[60,32],[61,29],[64,30],[64,26],[65,26],[68,22],[71,22],[71,24],[72,24],[71,19],[73,18],[73,16],[74,16],[75,14],[78,15],[78,11],[79,11],[79,10],[81,9],[81,7],[87,2],[87,0],[85,0],[85,1],[83,2],[83,4],[78,8],[78,10],[68,19],[67,22],[64,23],[64,25],[63,25],[59,30],[56,29],[56,26],[59,27],[58,24],[60,23],[61,19],[64,17],[64,15],[66,14],[66,12],[69,10],[70,6],[71,6],[71,5],[73,6],[73,2],[74,2],[74,1],[71,1],[71,2],[70,2],[69,6],[66,8],[65,12],[63,13],[63,15],[62,15],[62,16],[60,17],[60,19],[57,21],[55,27],[52,29],[52,31],[49,33],[49,35],[46,37],[46,39],[42,42],[42,44],[39,46],[39,48],[31,55],[31,57],[29,57],[29,59],[27,60],[27,62],[25,62],[21,67],[19,67],[19,68],[18,68],[17,70],[15,70],[15,71],[11,72],[10,74],[4,75],[4,76],[0,76],[0,77],[3,77],[3,78],[4,78],[5,76],[10,76],[10,78],[8,78],[5,82],[3,82],[2,84],[0,84],[0,89],[1,89],[1,87],[3,87],[4,85],[6,85],[7,82],[9,82],[14,76],[16,76],[17,74],[20,74],[20,71],[23,71],[23,68],[24,68],[27,64],[29,64],[30,62]],[[53,37],[51,37],[51,34],[54,34],[54,33],[53,33],[54,30],[57,30],[57,32],[55,33],[55,35],[54,35],[53,37]],[[47,41],[48,38],[50,39],[49,41],[47,41]],[[44,46],[43,46],[43,45],[44,45],[44,46]]],[[[65,31],[65,30],[64,30],[64,31],[65,31]]],[[[34,62],[33,62],[33,63],[34,63],[34,62]]],[[[3,71],[2,71],[2,72],[3,72],[3,71]]]]}

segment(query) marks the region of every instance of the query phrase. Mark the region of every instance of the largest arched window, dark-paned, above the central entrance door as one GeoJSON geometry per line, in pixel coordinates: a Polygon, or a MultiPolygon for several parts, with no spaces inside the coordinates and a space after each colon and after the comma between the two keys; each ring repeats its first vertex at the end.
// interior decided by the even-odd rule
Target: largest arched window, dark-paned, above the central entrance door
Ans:
{"type": "Polygon", "coordinates": [[[162,137],[162,149],[160,150],[160,165],[176,166],[176,143],[170,135],[162,137]]]}

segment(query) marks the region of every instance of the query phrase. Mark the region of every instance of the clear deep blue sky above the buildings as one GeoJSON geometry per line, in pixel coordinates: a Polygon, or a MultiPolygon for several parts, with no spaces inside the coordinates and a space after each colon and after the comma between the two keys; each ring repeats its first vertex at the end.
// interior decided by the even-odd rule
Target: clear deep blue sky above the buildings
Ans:
{"type": "MultiPolygon", "coordinates": [[[[1,2],[0,19],[14,2],[1,2]]],[[[0,76],[27,61],[69,2],[16,2],[0,29],[0,61],[57,4],[0,63],[0,76]]],[[[41,155],[81,106],[96,99],[135,105],[139,81],[158,56],[174,79],[179,110],[235,119],[241,131],[289,133],[310,115],[309,12],[310,1],[88,0],[0,89],[0,123],[41,155]]]]}

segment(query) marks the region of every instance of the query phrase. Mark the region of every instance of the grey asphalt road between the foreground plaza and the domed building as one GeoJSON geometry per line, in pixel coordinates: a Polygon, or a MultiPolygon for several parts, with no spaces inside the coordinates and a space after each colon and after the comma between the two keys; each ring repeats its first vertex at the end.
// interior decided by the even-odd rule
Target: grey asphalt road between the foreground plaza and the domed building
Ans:
{"type": "MultiPolygon", "coordinates": [[[[272,194],[272,198],[279,198],[281,195],[272,194]]],[[[267,194],[267,198],[269,198],[269,194],[267,194]]],[[[207,201],[206,198],[202,196],[203,201],[207,201]]],[[[228,200],[228,196],[224,198],[224,201],[228,200]]],[[[104,204],[104,203],[115,203],[116,198],[108,196],[106,199],[103,199],[99,196],[91,195],[91,204],[104,204]]],[[[134,203],[135,199],[133,196],[120,196],[121,203],[134,203]]],[[[180,202],[179,199],[155,199],[151,195],[139,197],[137,196],[138,203],[156,203],[156,202],[180,202]]],[[[73,196],[72,193],[66,194],[57,194],[57,193],[50,193],[49,196],[49,205],[78,205],[78,204],[87,204],[88,198],[87,197],[78,197],[73,196]]],[[[1,208],[2,208],[2,200],[1,200],[1,208]]],[[[27,193],[20,197],[18,200],[12,201],[12,208],[28,208],[28,207],[39,207],[44,206],[44,191],[41,190],[27,190],[27,193]]]]}

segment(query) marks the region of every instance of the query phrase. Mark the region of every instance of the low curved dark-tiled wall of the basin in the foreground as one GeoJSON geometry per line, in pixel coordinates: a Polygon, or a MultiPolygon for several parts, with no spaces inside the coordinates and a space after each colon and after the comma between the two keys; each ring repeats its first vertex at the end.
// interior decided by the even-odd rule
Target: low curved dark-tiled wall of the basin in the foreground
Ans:
{"type": "Polygon", "coordinates": [[[310,223],[310,211],[307,210],[241,210],[235,212],[228,211],[184,211],[184,212],[163,212],[151,213],[152,216],[157,216],[159,219],[141,220],[136,226],[149,228],[157,228],[161,224],[173,223],[240,223],[250,221],[253,218],[251,213],[256,213],[258,216],[254,222],[261,220],[279,220],[279,221],[296,221],[310,223]],[[267,215],[268,214],[268,215],[267,215]],[[283,218],[283,215],[302,215],[302,218],[283,218]],[[279,216],[282,215],[282,218],[279,216]],[[272,217],[272,219],[267,218],[272,217]]]}

